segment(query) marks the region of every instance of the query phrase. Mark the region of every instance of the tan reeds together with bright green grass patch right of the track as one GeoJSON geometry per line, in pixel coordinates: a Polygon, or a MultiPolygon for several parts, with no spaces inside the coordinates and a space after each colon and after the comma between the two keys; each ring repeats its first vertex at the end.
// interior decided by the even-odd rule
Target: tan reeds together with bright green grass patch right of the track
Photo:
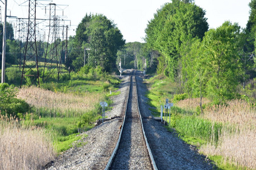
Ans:
{"type": "MultiPolygon", "coordinates": [[[[209,103],[207,100],[203,101],[205,104],[209,103]]],[[[176,105],[195,111],[199,99],[181,100],[176,105]]],[[[176,129],[189,137],[206,139],[208,142],[201,146],[200,152],[222,156],[222,164],[255,169],[255,122],[255,105],[244,100],[232,100],[226,105],[209,105],[200,116],[181,117],[176,121],[176,129]]]]}

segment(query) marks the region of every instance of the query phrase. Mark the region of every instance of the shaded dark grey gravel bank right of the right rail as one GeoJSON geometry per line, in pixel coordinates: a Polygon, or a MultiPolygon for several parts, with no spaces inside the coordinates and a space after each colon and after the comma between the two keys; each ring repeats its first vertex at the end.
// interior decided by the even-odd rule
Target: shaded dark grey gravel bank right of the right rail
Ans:
{"type": "MultiPolygon", "coordinates": [[[[137,76],[139,108],[143,117],[152,116],[145,97],[147,87],[143,74],[137,76]]],[[[175,132],[164,128],[163,124],[150,118],[143,119],[144,130],[158,169],[214,169],[190,145],[184,143],[175,132]]]]}

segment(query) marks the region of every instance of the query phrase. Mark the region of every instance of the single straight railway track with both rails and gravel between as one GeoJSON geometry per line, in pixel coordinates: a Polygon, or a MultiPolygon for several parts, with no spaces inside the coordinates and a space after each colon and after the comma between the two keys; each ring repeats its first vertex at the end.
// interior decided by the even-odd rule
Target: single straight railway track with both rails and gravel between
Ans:
{"type": "Polygon", "coordinates": [[[134,70],[119,139],[105,169],[157,169],[143,129],[135,76],[134,70]]]}

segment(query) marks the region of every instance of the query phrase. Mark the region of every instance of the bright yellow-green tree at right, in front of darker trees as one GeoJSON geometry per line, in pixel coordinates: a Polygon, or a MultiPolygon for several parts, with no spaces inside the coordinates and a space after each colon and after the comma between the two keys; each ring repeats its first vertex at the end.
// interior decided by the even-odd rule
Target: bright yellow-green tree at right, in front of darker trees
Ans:
{"type": "Polygon", "coordinates": [[[236,97],[236,87],[243,74],[239,34],[237,24],[225,22],[217,29],[210,29],[200,47],[199,65],[207,78],[206,92],[217,104],[236,97]]]}

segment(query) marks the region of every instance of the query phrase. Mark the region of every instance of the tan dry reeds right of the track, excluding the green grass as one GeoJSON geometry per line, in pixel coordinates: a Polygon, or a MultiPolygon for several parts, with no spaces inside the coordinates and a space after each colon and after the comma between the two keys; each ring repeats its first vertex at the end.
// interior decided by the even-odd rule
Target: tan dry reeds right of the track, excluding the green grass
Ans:
{"type": "Polygon", "coordinates": [[[255,106],[243,100],[232,100],[228,105],[205,109],[202,117],[226,126],[221,130],[218,146],[207,144],[201,147],[201,152],[222,155],[225,162],[256,169],[255,106]]]}

